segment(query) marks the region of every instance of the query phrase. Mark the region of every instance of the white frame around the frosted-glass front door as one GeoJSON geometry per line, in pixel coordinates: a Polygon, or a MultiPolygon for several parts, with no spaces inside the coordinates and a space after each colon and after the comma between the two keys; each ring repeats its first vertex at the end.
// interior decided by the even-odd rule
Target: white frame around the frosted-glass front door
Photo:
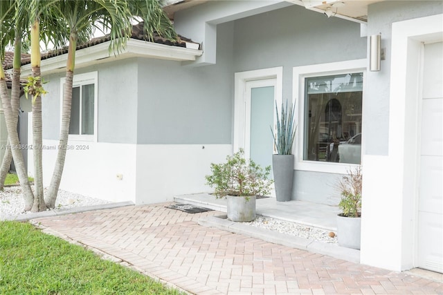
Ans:
{"type": "MultiPolygon", "coordinates": [[[[246,153],[246,97],[248,95],[247,82],[275,79],[274,93],[277,104],[282,103],[283,93],[283,67],[263,68],[260,70],[248,70],[235,73],[234,93],[234,138],[233,152],[244,149],[246,153]]],[[[251,93],[249,93],[250,95],[251,93]]],[[[250,118],[250,114],[249,114],[250,118]]],[[[249,151],[248,151],[249,153],[249,151]]]]}

